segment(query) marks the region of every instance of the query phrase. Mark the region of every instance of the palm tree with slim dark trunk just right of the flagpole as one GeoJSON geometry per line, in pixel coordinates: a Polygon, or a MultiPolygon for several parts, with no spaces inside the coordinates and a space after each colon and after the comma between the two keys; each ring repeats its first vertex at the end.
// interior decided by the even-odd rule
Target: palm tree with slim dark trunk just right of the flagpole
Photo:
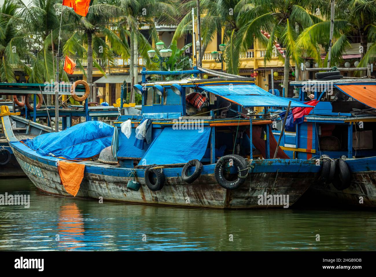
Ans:
{"type": "MultiPolygon", "coordinates": [[[[86,17],[76,14],[73,9],[64,7],[67,14],[65,33],[69,36],[63,47],[64,55],[87,58],[87,81],[92,83],[93,65],[105,74],[102,66],[93,59],[99,58],[102,64],[112,63],[114,55],[125,57],[129,53],[126,41],[122,41],[114,30],[114,20],[123,10],[117,6],[94,0],[86,17]],[[108,42],[108,43],[106,43],[108,42]],[[86,49],[86,47],[87,49],[86,49]]],[[[85,74],[80,60],[77,66],[85,74]]]]}

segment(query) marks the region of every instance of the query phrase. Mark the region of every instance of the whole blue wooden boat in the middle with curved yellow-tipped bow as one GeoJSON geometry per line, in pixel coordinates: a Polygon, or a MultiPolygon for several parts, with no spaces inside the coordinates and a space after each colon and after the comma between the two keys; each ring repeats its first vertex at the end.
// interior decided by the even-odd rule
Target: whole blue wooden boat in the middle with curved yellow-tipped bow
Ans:
{"type": "MultiPolygon", "coordinates": [[[[143,83],[135,86],[142,95],[141,114],[125,112],[122,92],[112,142],[105,145],[111,146],[115,162],[98,158],[95,145],[83,149],[95,156],[75,161],[85,165],[76,197],[182,207],[273,208],[289,207],[305,193],[319,177],[321,166],[312,159],[290,159],[281,149],[277,149],[277,158],[271,159],[277,147],[271,133],[272,118],[246,115],[244,109],[258,106],[267,112],[269,107],[287,107],[289,100],[262,90],[252,78],[200,80],[199,73],[198,69],[143,69],[143,83]],[[146,75],[153,74],[193,77],[147,82],[146,75]],[[129,138],[121,130],[124,122],[131,124],[129,138]],[[136,129],[143,123],[150,130],[144,138],[136,137],[136,129]]],[[[291,107],[309,106],[291,101],[291,107]]],[[[40,145],[51,134],[43,134],[32,140],[37,144],[36,139],[42,138],[42,144],[33,148],[30,141],[20,142],[14,135],[11,122],[16,115],[3,114],[1,118],[12,151],[36,187],[71,197],[61,184],[58,161],[62,159],[57,155],[64,156],[65,147],[72,145],[47,153],[52,143],[46,146],[48,150],[40,145]],[[47,154],[42,155],[43,151],[47,154]]],[[[95,135],[85,133],[85,123],[74,126],[82,139],[95,135]]],[[[29,122],[30,132],[40,132],[40,127],[29,122]]],[[[67,131],[73,132],[74,127],[67,131]]],[[[64,132],[58,135],[67,134],[64,132]]],[[[61,141],[64,144],[64,139],[61,141]]]]}

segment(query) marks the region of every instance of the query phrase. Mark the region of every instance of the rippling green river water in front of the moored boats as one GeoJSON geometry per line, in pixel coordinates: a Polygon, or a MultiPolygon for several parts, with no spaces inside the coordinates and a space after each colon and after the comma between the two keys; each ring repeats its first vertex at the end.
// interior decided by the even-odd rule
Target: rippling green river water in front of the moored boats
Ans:
{"type": "Polygon", "coordinates": [[[27,179],[0,181],[5,191],[30,194],[30,208],[0,206],[0,250],[376,250],[370,211],[99,204],[48,196],[27,179]]]}

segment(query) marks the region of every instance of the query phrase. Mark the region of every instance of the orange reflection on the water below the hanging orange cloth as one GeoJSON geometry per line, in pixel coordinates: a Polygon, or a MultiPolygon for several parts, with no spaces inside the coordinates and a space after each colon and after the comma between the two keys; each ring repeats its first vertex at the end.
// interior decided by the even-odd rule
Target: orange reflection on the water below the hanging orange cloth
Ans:
{"type": "Polygon", "coordinates": [[[59,244],[58,246],[64,250],[73,250],[82,246],[83,233],[83,217],[76,203],[70,203],[60,207],[59,221],[59,244]]]}

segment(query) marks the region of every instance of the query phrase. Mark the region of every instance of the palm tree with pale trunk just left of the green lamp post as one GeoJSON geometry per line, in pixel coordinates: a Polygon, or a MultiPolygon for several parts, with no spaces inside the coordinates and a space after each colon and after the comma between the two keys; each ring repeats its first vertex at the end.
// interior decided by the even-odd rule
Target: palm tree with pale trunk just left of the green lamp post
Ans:
{"type": "MultiPolygon", "coordinates": [[[[147,57],[147,51],[151,49],[149,38],[158,40],[155,23],[160,19],[173,19],[171,15],[176,12],[176,0],[112,0],[111,3],[124,11],[124,16],[118,22],[119,32],[124,39],[130,38],[130,64],[129,75],[131,80],[138,80],[138,58],[147,57]],[[140,32],[143,26],[149,27],[149,37],[146,38],[140,32]]],[[[133,84],[132,84],[133,85],[133,84]]],[[[133,89],[132,89],[133,91],[133,89]]],[[[135,95],[130,99],[134,103],[135,95]]]]}

